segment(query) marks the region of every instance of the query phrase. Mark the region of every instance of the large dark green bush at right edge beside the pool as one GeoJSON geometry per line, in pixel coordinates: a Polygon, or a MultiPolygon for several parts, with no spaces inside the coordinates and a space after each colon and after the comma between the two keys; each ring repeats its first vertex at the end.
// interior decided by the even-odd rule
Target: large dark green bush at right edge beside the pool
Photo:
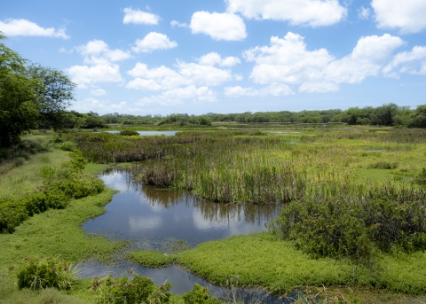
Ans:
{"type": "Polygon", "coordinates": [[[375,248],[407,253],[426,249],[426,210],[422,199],[398,202],[384,197],[291,202],[271,228],[315,257],[372,261],[375,248]]]}

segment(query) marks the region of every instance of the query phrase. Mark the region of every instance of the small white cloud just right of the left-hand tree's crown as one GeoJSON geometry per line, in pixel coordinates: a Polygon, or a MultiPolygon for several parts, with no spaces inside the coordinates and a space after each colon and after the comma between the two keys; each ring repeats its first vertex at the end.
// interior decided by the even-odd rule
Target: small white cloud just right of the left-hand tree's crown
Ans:
{"type": "Polygon", "coordinates": [[[66,71],[80,88],[87,88],[88,84],[97,82],[122,82],[120,67],[116,64],[71,66],[66,71]]]}

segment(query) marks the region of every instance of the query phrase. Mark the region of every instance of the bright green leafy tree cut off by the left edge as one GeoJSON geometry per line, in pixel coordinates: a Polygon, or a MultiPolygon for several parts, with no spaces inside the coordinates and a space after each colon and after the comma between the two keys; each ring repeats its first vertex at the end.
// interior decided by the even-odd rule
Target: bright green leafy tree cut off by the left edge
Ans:
{"type": "MultiPolygon", "coordinates": [[[[5,39],[0,33],[0,39],[5,39]]],[[[20,134],[38,125],[39,105],[36,95],[41,83],[29,79],[26,60],[0,43],[0,137],[19,141],[20,134]]]]}

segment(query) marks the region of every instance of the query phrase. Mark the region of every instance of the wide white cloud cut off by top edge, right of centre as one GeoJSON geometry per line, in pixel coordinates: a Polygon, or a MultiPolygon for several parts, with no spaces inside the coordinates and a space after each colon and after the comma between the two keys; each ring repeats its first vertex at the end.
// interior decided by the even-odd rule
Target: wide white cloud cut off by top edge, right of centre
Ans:
{"type": "Polygon", "coordinates": [[[329,26],[346,17],[338,0],[225,0],[227,12],[250,19],[288,21],[292,25],[329,26]]]}

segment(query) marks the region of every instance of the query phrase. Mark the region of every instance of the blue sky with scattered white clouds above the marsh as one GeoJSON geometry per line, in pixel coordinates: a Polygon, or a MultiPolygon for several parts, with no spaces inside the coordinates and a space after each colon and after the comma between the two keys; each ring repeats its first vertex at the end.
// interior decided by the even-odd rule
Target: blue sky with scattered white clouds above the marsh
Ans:
{"type": "Polygon", "coordinates": [[[80,113],[426,104],[426,0],[15,0],[4,43],[80,113]]]}

